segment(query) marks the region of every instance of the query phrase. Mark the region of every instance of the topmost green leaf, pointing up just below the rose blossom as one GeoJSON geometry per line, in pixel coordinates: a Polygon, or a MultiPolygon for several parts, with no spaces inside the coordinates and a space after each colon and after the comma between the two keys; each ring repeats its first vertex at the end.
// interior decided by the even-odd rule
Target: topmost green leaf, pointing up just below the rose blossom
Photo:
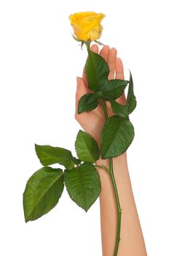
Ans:
{"type": "Polygon", "coordinates": [[[88,51],[89,55],[86,61],[86,75],[88,86],[92,91],[100,91],[108,80],[109,66],[106,61],[92,50],[88,51]]]}

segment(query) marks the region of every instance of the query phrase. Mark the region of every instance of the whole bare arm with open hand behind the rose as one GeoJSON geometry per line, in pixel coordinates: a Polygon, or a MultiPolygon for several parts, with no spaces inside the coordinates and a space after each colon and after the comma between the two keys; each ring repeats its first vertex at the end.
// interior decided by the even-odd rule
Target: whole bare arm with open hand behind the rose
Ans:
{"type": "MultiPolygon", "coordinates": [[[[91,48],[98,53],[98,46],[93,45],[91,48]]],[[[101,56],[108,62],[110,74],[109,79],[124,79],[124,72],[121,59],[117,59],[117,50],[104,46],[100,51],[101,56]],[[114,72],[116,75],[114,75],[114,72]]],[[[87,78],[83,72],[82,78],[77,78],[76,90],[76,113],[75,118],[81,124],[86,132],[93,135],[93,138],[100,143],[100,134],[105,118],[101,105],[88,113],[77,113],[77,105],[80,97],[89,92],[87,87],[87,78]]],[[[121,104],[125,104],[125,94],[118,100],[121,104]]],[[[109,115],[113,115],[110,106],[107,104],[109,115]]],[[[108,160],[99,159],[97,165],[108,165],[108,160]]],[[[144,237],[141,231],[141,225],[138,218],[133,191],[130,183],[130,176],[127,168],[126,153],[113,160],[114,176],[117,183],[119,193],[119,201],[122,207],[122,223],[121,235],[119,243],[118,256],[146,256],[146,247],[144,237]]],[[[106,170],[98,168],[101,177],[101,238],[103,256],[112,256],[116,241],[117,232],[117,206],[114,197],[114,189],[112,187],[111,178],[106,170]]]]}

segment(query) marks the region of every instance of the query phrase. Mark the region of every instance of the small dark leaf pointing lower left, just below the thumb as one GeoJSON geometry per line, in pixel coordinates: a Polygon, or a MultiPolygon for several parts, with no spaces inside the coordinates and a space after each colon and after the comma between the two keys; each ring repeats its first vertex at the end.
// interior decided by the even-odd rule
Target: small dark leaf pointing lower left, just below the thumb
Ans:
{"type": "Polygon", "coordinates": [[[78,113],[91,111],[96,107],[98,107],[98,99],[96,99],[95,94],[85,94],[79,100],[78,113]]]}

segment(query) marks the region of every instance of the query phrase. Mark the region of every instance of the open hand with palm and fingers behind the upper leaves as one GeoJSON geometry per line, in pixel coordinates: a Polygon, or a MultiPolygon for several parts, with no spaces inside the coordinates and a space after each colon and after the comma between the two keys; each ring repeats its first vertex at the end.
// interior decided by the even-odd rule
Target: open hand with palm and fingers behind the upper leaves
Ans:
{"type": "MultiPolygon", "coordinates": [[[[93,50],[94,53],[98,53],[98,45],[92,45],[90,49],[93,50]]],[[[117,58],[117,50],[115,48],[110,49],[109,45],[105,45],[100,50],[99,54],[103,57],[103,59],[106,60],[107,64],[109,65],[110,72],[108,79],[111,80],[115,78],[124,80],[123,65],[121,59],[117,58]]],[[[77,77],[75,118],[76,121],[78,121],[79,124],[82,126],[84,131],[92,135],[93,138],[95,138],[95,140],[98,142],[98,145],[100,145],[101,129],[103,127],[103,124],[105,123],[105,116],[101,107],[101,103],[99,103],[98,107],[95,108],[95,110],[80,114],[77,113],[79,99],[84,94],[87,94],[89,92],[91,91],[88,88],[87,77],[84,67],[82,78],[77,77]]],[[[125,94],[122,94],[122,96],[117,99],[117,102],[125,105],[125,94]]],[[[109,116],[113,116],[110,103],[106,102],[106,105],[109,116]]]]}

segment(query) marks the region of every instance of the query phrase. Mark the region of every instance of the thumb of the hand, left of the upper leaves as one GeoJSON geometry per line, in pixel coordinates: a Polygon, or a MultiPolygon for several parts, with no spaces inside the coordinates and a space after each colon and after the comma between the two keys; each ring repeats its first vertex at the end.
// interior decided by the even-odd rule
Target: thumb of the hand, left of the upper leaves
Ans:
{"type": "Polygon", "coordinates": [[[84,80],[82,78],[76,77],[76,110],[75,110],[75,118],[79,115],[77,113],[78,110],[78,104],[79,104],[79,99],[84,95],[87,94],[88,90],[87,87],[84,84],[84,80]]]}

